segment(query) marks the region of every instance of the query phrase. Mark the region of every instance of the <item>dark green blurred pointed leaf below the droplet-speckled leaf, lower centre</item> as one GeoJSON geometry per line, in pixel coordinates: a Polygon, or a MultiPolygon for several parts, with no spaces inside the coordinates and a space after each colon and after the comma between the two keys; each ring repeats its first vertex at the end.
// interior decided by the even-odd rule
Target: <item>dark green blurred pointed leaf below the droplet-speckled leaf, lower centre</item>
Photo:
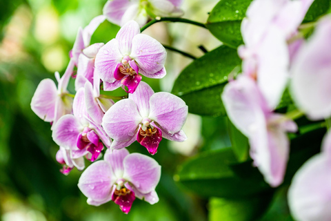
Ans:
{"type": "Polygon", "coordinates": [[[270,189],[252,162],[236,162],[232,148],[204,152],[185,162],[174,179],[185,189],[205,197],[235,198],[270,189]]]}

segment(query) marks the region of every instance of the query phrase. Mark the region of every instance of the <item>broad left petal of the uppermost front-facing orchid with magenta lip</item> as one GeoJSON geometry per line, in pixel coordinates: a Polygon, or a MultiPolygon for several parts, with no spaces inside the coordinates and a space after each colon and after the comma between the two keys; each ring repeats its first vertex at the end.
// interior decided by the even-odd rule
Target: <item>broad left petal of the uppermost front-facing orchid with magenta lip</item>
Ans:
{"type": "Polygon", "coordinates": [[[114,70],[117,64],[121,63],[122,59],[123,55],[119,50],[119,41],[117,39],[110,40],[105,46],[100,48],[95,57],[94,66],[102,81],[107,81],[108,83],[116,81],[114,70]]]}

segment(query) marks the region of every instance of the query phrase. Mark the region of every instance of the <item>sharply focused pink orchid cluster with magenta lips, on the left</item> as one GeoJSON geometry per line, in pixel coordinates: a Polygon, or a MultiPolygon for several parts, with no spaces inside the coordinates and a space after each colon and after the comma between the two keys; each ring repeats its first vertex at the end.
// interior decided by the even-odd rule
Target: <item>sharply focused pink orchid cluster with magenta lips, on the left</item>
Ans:
{"type": "Polygon", "coordinates": [[[32,111],[52,124],[61,173],[68,175],[74,167],[83,170],[85,158],[94,162],[78,184],[88,204],[112,200],[128,213],[135,198],[150,204],[159,201],[155,187],[161,166],[146,155],[130,154],[126,147],[137,140],[154,155],[163,137],[177,142],[187,139],[181,130],[188,115],[185,102],[170,93],[154,93],[141,81],[142,75],[165,76],[167,53],[159,41],[141,34],[139,25],[148,21],[148,15],[181,15],[179,3],[108,1],[104,15],[79,28],[66,72],[61,78],[55,73],[58,86],[44,79],[32,97],[32,111]],[[106,19],[122,26],[116,38],[91,45],[94,31],[106,19]],[[75,95],[68,92],[71,77],[75,95]],[[128,96],[117,97],[121,100],[115,103],[101,94],[101,84],[105,91],[122,87],[128,96]]]}

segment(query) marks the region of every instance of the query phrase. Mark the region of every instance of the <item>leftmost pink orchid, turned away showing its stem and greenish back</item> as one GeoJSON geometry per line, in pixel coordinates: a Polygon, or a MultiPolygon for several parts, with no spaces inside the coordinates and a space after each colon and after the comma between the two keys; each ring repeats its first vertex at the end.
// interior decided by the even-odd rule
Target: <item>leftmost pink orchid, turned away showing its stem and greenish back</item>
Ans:
{"type": "Polygon", "coordinates": [[[43,79],[32,97],[32,111],[45,122],[52,122],[52,128],[60,117],[72,112],[72,97],[68,96],[67,87],[73,68],[74,63],[70,61],[61,78],[55,73],[58,86],[52,79],[43,79]]]}

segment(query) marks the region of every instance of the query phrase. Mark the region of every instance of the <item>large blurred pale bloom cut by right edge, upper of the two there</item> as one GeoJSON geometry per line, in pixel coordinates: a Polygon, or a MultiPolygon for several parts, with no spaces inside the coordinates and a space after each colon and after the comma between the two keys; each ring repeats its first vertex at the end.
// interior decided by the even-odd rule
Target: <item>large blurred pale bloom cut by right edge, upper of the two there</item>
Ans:
{"type": "Polygon", "coordinates": [[[331,16],[323,18],[294,60],[294,102],[311,119],[331,115],[331,16]]]}

